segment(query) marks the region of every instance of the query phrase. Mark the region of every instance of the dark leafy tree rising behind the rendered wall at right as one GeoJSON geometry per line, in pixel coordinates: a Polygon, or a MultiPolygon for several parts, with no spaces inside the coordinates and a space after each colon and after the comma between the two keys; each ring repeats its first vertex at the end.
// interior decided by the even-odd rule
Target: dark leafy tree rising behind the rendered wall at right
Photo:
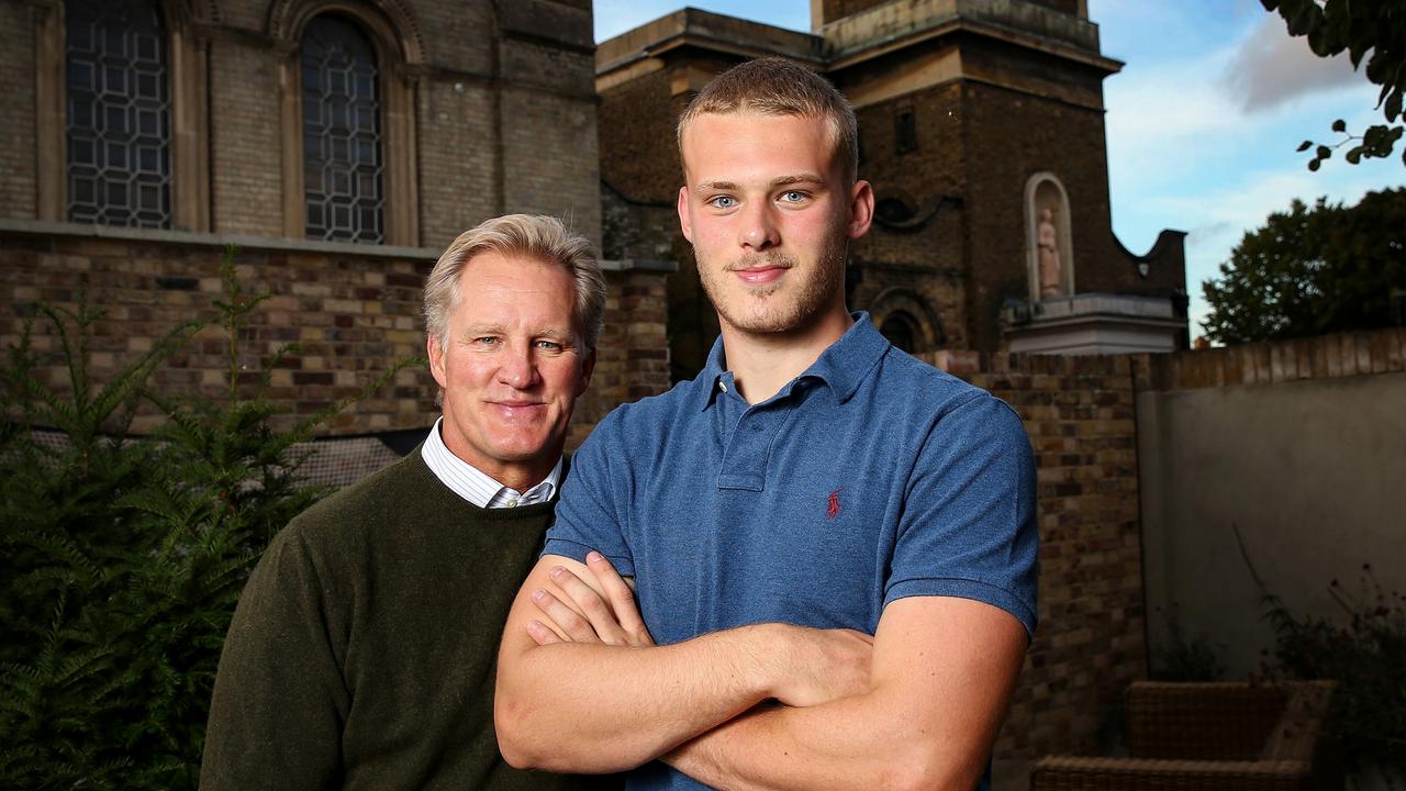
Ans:
{"type": "Polygon", "coordinates": [[[1391,327],[1406,294],[1406,190],[1344,208],[1295,200],[1247,232],[1201,284],[1205,334],[1220,343],[1391,327]]]}

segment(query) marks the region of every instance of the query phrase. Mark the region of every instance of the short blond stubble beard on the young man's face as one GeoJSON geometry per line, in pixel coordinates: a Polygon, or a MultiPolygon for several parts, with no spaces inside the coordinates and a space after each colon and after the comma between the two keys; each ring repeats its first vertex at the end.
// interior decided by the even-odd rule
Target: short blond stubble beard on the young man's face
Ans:
{"type": "Polygon", "coordinates": [[[702,260],[697,248],[693,258],[699,262],[703,293],[724,324],[742,332],[772,335],[803,329],[824,312],[844,287],[846,246],[844,236],[827,239],[808,273],[797,272],[800,260],[785,253],[748,253],[721,269],[702,260]],[[780,280],[762,286],[728,283],[734,272],[762,262],[787,272],[780,280]]]}

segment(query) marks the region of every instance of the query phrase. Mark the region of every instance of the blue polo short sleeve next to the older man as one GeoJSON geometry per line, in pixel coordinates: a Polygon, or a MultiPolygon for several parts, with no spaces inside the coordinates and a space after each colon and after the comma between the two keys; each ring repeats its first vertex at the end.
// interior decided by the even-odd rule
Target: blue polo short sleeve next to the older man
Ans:
{"type": "Polygon", "coordinates": [[[617,442],[619,410],[606,415],[571,457],[571,472],[561,484],[555,524],[547,531],[543,555],[560,555],[586,562],[592,549],[610,559],[623,577],[634,576],[634,555],[624,538],[628,525],[627,470],[612,470],[612,457],[620,463],[623,446],[617,442]]]}

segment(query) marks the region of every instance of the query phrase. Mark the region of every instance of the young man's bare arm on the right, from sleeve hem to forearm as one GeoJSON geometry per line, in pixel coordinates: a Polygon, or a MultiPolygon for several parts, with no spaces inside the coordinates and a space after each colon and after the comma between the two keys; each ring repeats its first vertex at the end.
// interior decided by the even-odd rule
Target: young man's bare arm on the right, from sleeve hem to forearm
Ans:
{"type": "Polygon", "coordinates": [[[717,788],[970,791],[1019,673],[1025,632],[967,600],[901,600],[875,643],[869,692],[745,714],[664,756],[717,788]]]}

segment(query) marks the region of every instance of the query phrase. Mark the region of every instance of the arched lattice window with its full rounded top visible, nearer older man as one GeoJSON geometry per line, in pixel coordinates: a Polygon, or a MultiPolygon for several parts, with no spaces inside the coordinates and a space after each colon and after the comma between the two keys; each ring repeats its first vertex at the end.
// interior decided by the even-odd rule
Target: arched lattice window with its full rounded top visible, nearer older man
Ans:
{"type": "Polygon", "coordinates": [[[375,49],[350,21],[321,14],[302,32],[302,183],[309,239],[385,241],[375,49]]]}

